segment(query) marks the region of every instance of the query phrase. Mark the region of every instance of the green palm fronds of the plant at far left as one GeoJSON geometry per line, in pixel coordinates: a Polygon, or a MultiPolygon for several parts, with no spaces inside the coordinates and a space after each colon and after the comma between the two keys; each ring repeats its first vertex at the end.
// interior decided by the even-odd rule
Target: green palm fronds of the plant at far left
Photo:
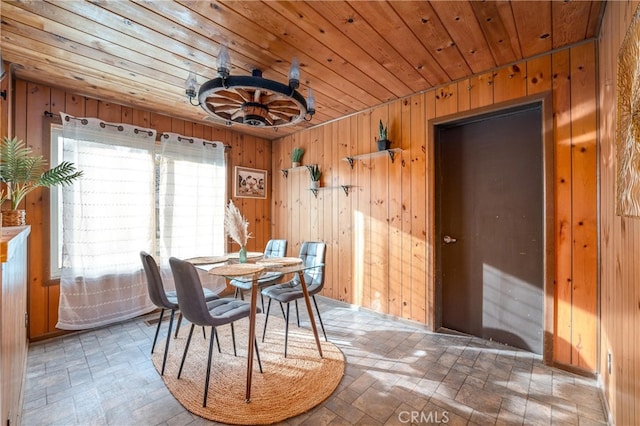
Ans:
{"type": "Polygon", "coordinates": [[[0,145],[0,180],[6,184],[0,190],[0,205],[11,200],[11,210],[17,210],[24,197],[38,187],[69,185],[82,176],[73,163],[63,161],[47,169],[47,160],[33,155],[31,148],[17,138],[4,137],[0,145]]]}

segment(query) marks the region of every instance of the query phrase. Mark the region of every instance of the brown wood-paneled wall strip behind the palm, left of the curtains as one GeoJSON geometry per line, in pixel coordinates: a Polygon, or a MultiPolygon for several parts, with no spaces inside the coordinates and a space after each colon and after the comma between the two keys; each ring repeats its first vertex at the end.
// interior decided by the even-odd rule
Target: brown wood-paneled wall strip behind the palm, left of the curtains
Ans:
{"type": "MultiPolygon", "coordinates": [[[[16,102],[24,108],[16,108],[16,136],[33,149],[34,154],[42,154],[42,120],[44,112],[51,107],[51,90],[48,87],[16,82],[16,102]],[[24,118],[24,121],[23,121],[24,118]]],[[[42,189],[25,197],[27,223],[31,225],[31,241],[42,241],[42,189]]],[[[39,244],[29,245],[29,336],[44,335],[49,332],[49,288],[45,286],[41,271],[44,270],[45,253],[39,244]]]]}

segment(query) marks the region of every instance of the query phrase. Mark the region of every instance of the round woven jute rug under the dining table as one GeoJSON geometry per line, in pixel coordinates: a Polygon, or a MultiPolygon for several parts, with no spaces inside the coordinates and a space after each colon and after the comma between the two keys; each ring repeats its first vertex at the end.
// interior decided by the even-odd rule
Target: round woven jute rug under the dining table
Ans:
{"type": "MultiPolygon", "coordinates": [[[[207,406],[202,407],[207,369],[210,328],[207,339],[202,327],[196,327],[191,338],[180,379],[178,369],[187,341],[190,324],[180,327],[171,339],[165,384],[173,396],[190,412],[205,419],[238,425],[276,423],[297,416],[320,404],[336,389],[344,374],[344,355],[333,343],[325,342],[322,330],[320,358],[311,330],[298,328],[292,318],[289,326],[287,358],[284,357],[284,320],[269,316],[266,339],[261,342],[264,315],[258,314],[256,335],[262,360],[260,373],[257,359],[253,362],[251,401],[245,402],[247,378],[247,332],[249,319],[235,323],[237,356],[233,355],[231,328],[217,328],[222,353],[214,345],[207,406]]],[[[164,343],[157,343],[152,356],[158,372],[162,367],[164,343]]]]}

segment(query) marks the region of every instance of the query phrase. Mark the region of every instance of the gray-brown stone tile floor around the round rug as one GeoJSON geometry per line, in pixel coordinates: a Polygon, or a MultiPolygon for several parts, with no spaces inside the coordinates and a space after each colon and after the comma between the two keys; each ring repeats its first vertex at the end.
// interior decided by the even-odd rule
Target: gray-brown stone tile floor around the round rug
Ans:
{"type": "MultiPolygon", "coordinates": [[[[318,301],[346,373],[329,399],[284,425],[606,424],[595,380],[494,342],[318,301]]],[[[33,343],[22,424],[213,424],[186,411],[151,364],[155,325],[145,319],[155,317],[33,343]]]]}

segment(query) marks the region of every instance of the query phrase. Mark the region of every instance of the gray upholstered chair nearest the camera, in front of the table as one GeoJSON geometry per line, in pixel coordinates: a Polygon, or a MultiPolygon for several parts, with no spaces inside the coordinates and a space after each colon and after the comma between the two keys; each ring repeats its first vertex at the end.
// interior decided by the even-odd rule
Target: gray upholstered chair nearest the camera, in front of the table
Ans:
{"type": "MultiPolygon", "coordinates": [[[[187,337],[187,343],[185,344],[184,353],[182,354],[182,361],[180,362],[180,369],[178,370],[178,379],[182,374],[182,367],[184,366],[184,361],[187,358],[189,344],[191,343],[191,336],[193,335],[193,328],[196,325],[211,327],[207,375],[205,377],[204,384],[204,399],[202,400],[202,406],[206,407],[207,395],[209,393],[209,376],[211,373],[211,352],[213,350],[213,340],[216,335],[216,327],[225,324],[231,325],[233,353],[236,355],[236,337],[233,329],[233,323],[239,319],[248,318],[251,313],[251,305],[249,302],[234,298],[219,298],[206,302],[202,291],[200,276],[198,275],[195,267],[191,263],[175,257],[169,259],[169,265],[171,265],[171,272],[173,273],[173,279],[176,284],[178,300],[180,300],[180,311],[182,312],[182,315],[191,322],[189,336],[187,337]]],[[[261,312],[260,308],[257,309],[258,312],[261,312]]],[[[260,362],[260,353],[258,352],[258,342],[254,339],[253,343],[256,349],[260,372],[262,373],[262,363],[260,362]]]]}

